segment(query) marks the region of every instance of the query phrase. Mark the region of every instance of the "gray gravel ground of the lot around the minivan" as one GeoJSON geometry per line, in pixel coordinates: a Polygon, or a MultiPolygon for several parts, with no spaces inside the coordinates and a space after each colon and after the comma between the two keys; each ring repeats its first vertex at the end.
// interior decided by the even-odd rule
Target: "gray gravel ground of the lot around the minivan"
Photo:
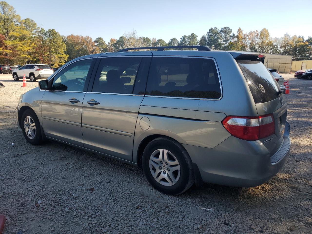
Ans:
{"type": "Polygon", "coordinates": [[[125,163],[56,142],[28,144],[15,108],[37,82],[21,88],[0,75],[3,233],[312,233],[312,81],[282,75],[292,149],[280,173],[255,188],[204,184],[180,196],[159,193],[125,163]]]}

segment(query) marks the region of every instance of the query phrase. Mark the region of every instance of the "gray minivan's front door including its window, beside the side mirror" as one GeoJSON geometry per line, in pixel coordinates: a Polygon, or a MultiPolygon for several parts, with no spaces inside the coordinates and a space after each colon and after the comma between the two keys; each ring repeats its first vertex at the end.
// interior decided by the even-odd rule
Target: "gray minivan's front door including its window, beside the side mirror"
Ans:
{"type": "Polygon", "coordinates": [[[58,72],[42,97],[42,123],[47,137],[83,146],[82,102],[95,59],[73,62],[58,72]]]}

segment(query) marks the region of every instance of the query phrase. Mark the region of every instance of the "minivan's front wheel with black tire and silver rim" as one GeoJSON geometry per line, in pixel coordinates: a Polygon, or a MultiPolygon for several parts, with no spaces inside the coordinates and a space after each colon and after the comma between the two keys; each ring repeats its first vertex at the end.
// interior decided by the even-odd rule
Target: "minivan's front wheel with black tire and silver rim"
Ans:
{"type": "Polygon", "coordinates": [[[33,145],[43,142],[41,137],[40,122],[33,110],[25,110],[21,119],[21,127],[25,139],[33,145]]]}

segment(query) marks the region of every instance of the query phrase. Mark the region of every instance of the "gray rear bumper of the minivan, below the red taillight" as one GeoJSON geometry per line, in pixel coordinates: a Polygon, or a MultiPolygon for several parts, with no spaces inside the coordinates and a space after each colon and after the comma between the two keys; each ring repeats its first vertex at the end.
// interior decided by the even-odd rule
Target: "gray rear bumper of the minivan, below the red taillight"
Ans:
{"type": "Polygon", "coordinates": [[[275,176],[290,152],[289,124],[284,140],[271,155],[260,141],[244,141],[230,136],[213,149],[183,145],[196,163],[206,183],[235,187],[255,187],[275,176]]]}

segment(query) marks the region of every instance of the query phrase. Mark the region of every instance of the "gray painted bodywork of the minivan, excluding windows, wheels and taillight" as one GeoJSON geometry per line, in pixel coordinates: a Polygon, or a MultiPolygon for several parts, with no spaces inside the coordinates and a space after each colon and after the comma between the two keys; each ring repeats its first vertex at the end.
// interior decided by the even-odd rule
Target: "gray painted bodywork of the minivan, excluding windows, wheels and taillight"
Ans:
{"type": "Polygon", "coordinates": [[[215,61],[222,96],[218,100],[208,100],[92,93],[90,87],[88,92],[51,92],[36,88],[22,95],[17,118],[18,111],[28,106],[35,111],[48,138],[134,165],[140,162],[139,147],[145,139],[154,135],[168,136],[187,150],[204,182],[256,186],[274,176],[289,154],[287,104],[284,95],[255,104],[234,59],[241,54],[239,51],[133,51],[83,56],[62,66],[51,78],[72,62],[85,58],[200,57],[215,61]],[[71,104],[68,99],[73,97],[80,102],[71,104]],[[100,104],[88,104],[91,99],[100,104]],[[270,113],[275,121],[275,134],[265,139],[241,140],[222,125],[222,120],[228,115],[270,113]]]}

